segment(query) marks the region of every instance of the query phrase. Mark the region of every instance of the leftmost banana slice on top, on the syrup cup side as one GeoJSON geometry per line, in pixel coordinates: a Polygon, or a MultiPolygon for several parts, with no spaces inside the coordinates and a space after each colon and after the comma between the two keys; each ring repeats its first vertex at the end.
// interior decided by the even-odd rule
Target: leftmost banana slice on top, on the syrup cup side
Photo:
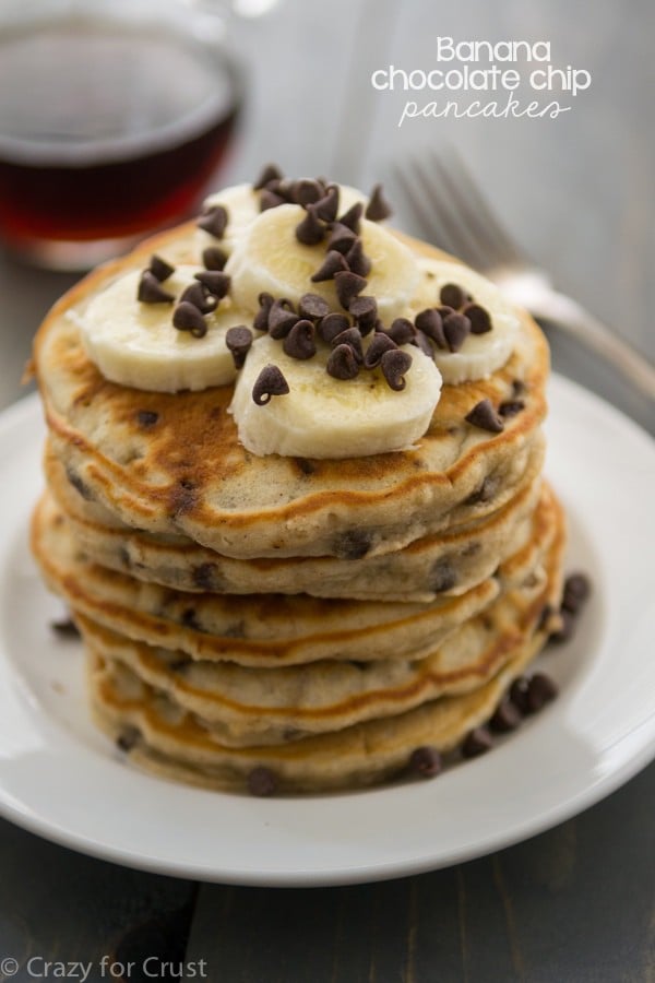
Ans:
{"type": "MultiPolygon", "coordinates": [[[[178,267],[163,284],[176,297],[196,281],[198,267],[178,267]]],[[[106,379],[134,389],[178,392],[226,386],[236,376],[225,344],[228,328],[251,319],[229,298],[207,315],[207,333],[193,337],[172,325],[172,304],[136,299],[141,272],[133,270],[97,294],[76,316],[88,357],[106,379]]]]}

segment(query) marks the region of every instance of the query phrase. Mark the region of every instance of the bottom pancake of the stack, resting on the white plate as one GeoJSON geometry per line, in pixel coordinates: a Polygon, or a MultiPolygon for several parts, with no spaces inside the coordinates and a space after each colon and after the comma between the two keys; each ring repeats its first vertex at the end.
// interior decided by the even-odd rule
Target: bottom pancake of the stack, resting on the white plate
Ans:
{"type": "MultiPolygon", "coordinates": [[[[513,678],[547,638],[546,603],[561,592],[563,530],[550,554],[546,585],[516,607],[502,667],[469,692],[441,696],[414,709],[365,720],[336,731],[285,743],[230,747],[211,723],[135,675],[124,662],[90,651],[90,688],[98,724],[135,763],[177,780],[214,789],[245,790],[254,768],[270,769],[281,792],[315,792],[370,785],[406,768],[412,751],[430,745],[452,750],[493,712],[513,678]]],[[[479,629],[478,629],[479,630],[479,629]]],[[[176,690],[176,696],[179,690],[176,690]]],[[[261,711],[260,711],[261,712],[261,711]]]]}

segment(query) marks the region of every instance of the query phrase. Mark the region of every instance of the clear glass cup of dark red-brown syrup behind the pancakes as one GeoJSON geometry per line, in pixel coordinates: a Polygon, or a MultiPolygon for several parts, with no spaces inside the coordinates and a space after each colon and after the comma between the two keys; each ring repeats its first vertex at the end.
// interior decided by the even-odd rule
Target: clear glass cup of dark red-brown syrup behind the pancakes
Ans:
{"type": "Polygon", "coordinates": [[[72,11],[0,32],[0,235],[58,269],[188,216],[241,103],[237,66],[190,10],[176,23],[72,11]]]}

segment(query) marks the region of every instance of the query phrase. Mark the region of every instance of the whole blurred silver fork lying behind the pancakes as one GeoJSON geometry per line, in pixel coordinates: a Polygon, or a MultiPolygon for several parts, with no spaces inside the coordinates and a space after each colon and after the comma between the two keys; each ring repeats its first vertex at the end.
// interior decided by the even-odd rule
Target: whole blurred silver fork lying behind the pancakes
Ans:
{"type": "Polygon", "coordinates": [[[580,304],[552,286],[512,240],[454,151],[426,153],[394,168],[429,241],[460,257],[492,280],[535,318],[555,324],[615,366],[655,400],[655,369],[580,304]]]}

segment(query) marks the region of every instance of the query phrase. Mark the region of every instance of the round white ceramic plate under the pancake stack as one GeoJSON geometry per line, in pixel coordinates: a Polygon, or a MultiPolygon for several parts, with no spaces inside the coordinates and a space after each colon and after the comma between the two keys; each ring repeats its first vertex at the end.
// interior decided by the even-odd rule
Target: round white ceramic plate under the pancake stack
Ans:
{"type": "Polygon", "coordinates": [[[0,813],[118,863],[206,880],[326,885],[398,877],[507,846],[612,792],[655,754],[651,439],[552,380],[547,472],[569,513],[567,567],[595,591],[575,639],[543,656],[561,694],[483,758],[355,794],[251,798],[136,771],[91,724],[80,643],[27,547],[40,487],[35,400],[0,417],[0,813]]]}

